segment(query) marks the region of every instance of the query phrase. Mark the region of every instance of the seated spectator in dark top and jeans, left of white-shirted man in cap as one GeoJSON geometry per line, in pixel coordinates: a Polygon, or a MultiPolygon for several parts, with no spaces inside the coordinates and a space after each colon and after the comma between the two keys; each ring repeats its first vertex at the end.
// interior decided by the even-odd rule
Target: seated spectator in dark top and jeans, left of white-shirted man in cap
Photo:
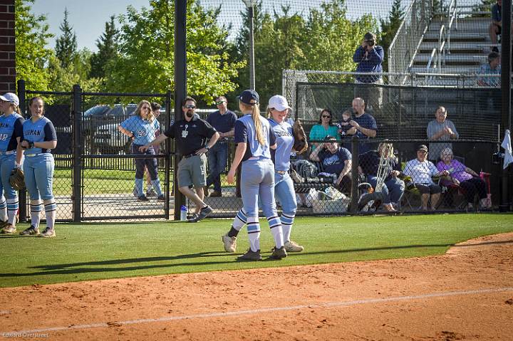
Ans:
{"type": "Polygon", "coordinates": [[[381,192],[385,196],[383,199],[383,207],[387,211],[395,211],[401,197],[404,194],[405,183],[398,178],[400,174],[400,163],[393,154],[393,148],[388,149],[388,155],[385,155],[385,142],[380,143],[378,150],[369,150],[358,157],[359,170],[366,175],[367,182],[375,189],[378,182],[378,169],[381,157],[389,159],[387,167],[384,169],[385,174],[383,189],[381,192]]]}

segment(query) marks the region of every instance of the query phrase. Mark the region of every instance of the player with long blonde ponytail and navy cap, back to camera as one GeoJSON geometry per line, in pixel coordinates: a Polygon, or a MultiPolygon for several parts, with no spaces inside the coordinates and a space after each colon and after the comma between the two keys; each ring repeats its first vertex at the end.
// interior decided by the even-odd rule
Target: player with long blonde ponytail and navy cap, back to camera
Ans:
{"type": "Polygon", "coordinates": [[[274,237],[275,248],[270,258],[286,257],[281,221],[276,213],[274,200],[274,167],[270,149],[276,149],[276,136],[269,121],[260,116],[259,95],[254,90],[245,90],[240,96],[239,108],[244,116],[235,122],[234,141],[237,143],[232,167],[227,180],[234,182],[235,172],[242,162],[241,194],[243,208],[237,213],[232,229],[226,238],[237,236],[244,224],[247,224],[249,250],[239,256],[240,261],[260,261],[260,224],[258,202],[261,201],[269,228],[274,237]],[[247,217],[247,219],[245,218],[247,217]],[[244,220],[246,219],[246,220],[244,220]]]}

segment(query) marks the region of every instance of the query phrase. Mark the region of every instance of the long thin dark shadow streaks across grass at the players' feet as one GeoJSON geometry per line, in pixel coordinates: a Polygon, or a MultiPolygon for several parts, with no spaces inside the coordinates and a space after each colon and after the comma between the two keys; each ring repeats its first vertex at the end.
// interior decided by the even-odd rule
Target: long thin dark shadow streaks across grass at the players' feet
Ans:
{"type": "MultiPolygon", "coordinates": [[[[379,248],[350,248],[347,250],[333,250],[333,251],[316,251],[316,252],[301,252],[301,253],[289,253],[289,257],[301,257],[301,256],[312,256],[312,255],[327,255],[327,254],[336,254],[336,253],[353,253],[353,252],[366,252],[366,251],[386,251],[386,250],[399,250],[399,249],[408,249],[408,248],[432,248],[432,247],[472,247],[478,245],[487,245],[487,244],[507,244],[513,243],[513,241],[483,241],[481,243],[473,243],[467,245],[455,245],[455,244],[424,244],[424,245],[405,245],[405,246],[383,246],[379,248]]],[[[265,253],[271,253],[265,252],[265,253]]],[[[263,253],[263,254],[265,254],[263,253]]],[[[6,277],[21,277],[21,276],[53,276],[53,275],[66,275],[66,274],[76,274],[76,273],[100,273],[100,272],[113,272],[113,271],[138,271],[145,270],[151,268],[172,268],[176,266],[212,266],[218,264],[232,264],[237,262],[236,259],[233,261],[209,261],[209,262],[201,262],[201,261],[190,261],[184,263],[165,263],[165,264],[148,264],[141,266],[128,266],[128,267],[115,267],[115,268],[105,268],[103,266],[110,265],[121,265],[121,264],[130,264],[130,263],[143,263],[143,262],[162,262],[162,261],[177,261],[182,259],[194,259],[194,258],[212,258],[212,257],[227,257],[233,256],[236,257],[242,253],[226,253],[224,251],[209,251],[209,252],[200,252],[200,253],[190,253],[179,256],[164,256],[164,257],[143,257],[143,258],[127,258],[127,259],[113,259],[109,261],[93,261],[93,262],[83,262],[83,263],[65,263],[65,264],[53,264],[53,265],[43,265],[43,266],[31,266],[28,268],[39,269],[41,271],[33,272],[33,273],[0,273],[0,278],[6,277]],[[82,266],[99,266],[99,268],[81,268],[82,266]]],[[[264,258],[264,261],[276,261],[274,259],[264,258]]],[[[237,262],[240,263],[240,262],[237,262]]],[[[251,263],[251,262],[249,262],[251,263]]]]}

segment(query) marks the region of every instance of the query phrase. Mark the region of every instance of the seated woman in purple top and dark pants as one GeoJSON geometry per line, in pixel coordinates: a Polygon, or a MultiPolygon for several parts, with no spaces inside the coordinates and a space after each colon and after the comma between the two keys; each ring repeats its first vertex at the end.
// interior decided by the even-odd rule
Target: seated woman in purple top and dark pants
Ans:
{"type": "Polygon", "coordinates": [[[474,197],[479,196],[480,209],[491,209],[487,201],[486,184],[479,174],[474,172],[469,167],[462,164],[457,159],[454,159],[452,149],[445,148],[440,153],[440,162],[437,163],[437,169],[449,172],[449,179],[442,180],[449,185],[459,186],[463,189],[465,198],[467,199],[467,209],[474,209],[474,197]]]}

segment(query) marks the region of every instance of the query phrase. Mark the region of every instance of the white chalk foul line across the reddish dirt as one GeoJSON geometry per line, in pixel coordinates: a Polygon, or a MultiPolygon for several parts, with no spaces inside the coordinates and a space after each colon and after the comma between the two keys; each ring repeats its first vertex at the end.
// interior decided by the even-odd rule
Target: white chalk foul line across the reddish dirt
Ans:
{"type": "Polygon", "coordinates": [[[52,332],[58,330],[73,330],[73,329],[91,329],[91,328],[101,328],[101,327],[110,327],[110,326],[121,326],[121,325],[138,325],[141,323],[151,323],[151,322],[168,322],[168,321],[178,321],[178,320],[194,320],[197,318],[226,318],[229,316],[239,316],[239,315],[251,315],[251,314],[259,314],[259,313],[269,313],[274,311],[286,311],[286,310],[299,310],[306,308],[331,308],[331,307],[347,307],[350,305],[361,305],[361,304],[369,304],[369,303],[385,303],[385,302],[397,302],[401,300],[420,300],[425,298],[439,298],[439,297],[448,297],[448,296],[456,296],[456,295],[474,295],[481,293],[502,293],[504,291],[513,291],[513,287],[508,288],[490,288],[490,289],[480,289],[480,290],[458,290],[458,291],[447,291],[442,293],[427,293],[424,295],[410,295],[410,296],[395,296],[390,298],[367,298],[363,300],[349,300],[344,302],[331,302],[331,303],[312,303],[309,305],[293,305],[289,307],[276,307],[276,308],[259,308],[252,310],[235,310],[224,313],[204,313],[204,314],[195,314],[195,315],[184,315],[184,316],[169,316],[166,318],[146,318],[141,320],[128,320],[128,321],[119,321],[119,322],[98,322],[90,325],[69,325],[68,327],[48,327],[41,329],[33,329],[33,330],[21,330],[16,332],[0,332],[0,336],[6,335],[23,335],[23,334],[33,334],[38,332],[52,332]]]}

